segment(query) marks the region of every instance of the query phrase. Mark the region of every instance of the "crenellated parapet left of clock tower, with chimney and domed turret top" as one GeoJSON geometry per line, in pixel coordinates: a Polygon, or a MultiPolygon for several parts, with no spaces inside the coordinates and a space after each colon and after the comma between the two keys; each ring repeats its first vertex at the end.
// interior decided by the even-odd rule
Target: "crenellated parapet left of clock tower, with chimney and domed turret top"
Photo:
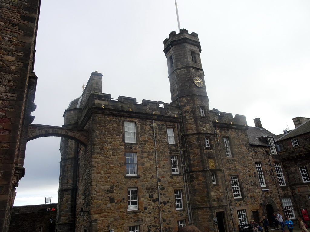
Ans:
{"type": "MultiPolygon", "coordinates": [[[[179,106],[162,101],[142,100],[137,103],[133,97],[119,96],[112,99],[111,94],[101,93],[102,74],[93,72],[86,84],[83,94],[70,102],[64,113],[64,124],[81,127],[88,119],[90,111],[99,114],[124,115],[133,118],[179,121],[179,106]],[[166,118],[166,119],[164,119],[166,118]]],[[[83,126],[82,126],[83,127],[83,126]]]]}

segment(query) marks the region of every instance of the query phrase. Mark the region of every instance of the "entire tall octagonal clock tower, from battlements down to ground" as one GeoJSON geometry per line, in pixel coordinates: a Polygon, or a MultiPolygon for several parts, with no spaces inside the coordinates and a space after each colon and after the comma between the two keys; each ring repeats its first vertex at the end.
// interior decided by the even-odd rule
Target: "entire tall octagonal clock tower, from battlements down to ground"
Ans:
{"type": "Polygon", "coordinates": [[[206,82],[201,65],[201,46],[198,35],[181,29],[180,33],[171,32],[164,41],[164,53],[167,58],[170,82],[171,104],[180,107],[182,118],[182,147],[187,173],[191,185],[191,210],[199,227],[204,225],[204,217],[215,217],[210,207],[213,203],[210,182],[210,170],[215,168],[215,134],[206,82]],[[206,146],[206,140],[210,146],[206,146]],[[208,147],[208,148],[206,148],[208,147]]]}

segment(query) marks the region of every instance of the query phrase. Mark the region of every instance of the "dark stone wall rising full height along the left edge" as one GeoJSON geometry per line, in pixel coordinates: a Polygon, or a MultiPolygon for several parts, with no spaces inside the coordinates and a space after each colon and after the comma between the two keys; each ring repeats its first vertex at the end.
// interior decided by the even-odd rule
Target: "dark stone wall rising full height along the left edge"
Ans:
{"type": "Polygon", "coordinates": [[[23,136],[27,135],[31,111],[26,101],[33,101],[28,90],[32,88],[34,94],[36,84],[29,83],[29,75],[39,4],[39,0],[0,3],[0,231],[8,230],[15,198],[13,185],[24,174],[23,136]]]}

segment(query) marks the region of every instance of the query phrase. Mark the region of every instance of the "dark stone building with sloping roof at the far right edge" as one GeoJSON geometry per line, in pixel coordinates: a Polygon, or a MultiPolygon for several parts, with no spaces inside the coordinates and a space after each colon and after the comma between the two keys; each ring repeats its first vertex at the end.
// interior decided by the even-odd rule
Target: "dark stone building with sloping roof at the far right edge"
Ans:
{"type": "Polygon", "coordinates": [[[282,204],[286,214],[290,207],[286,203],[291,200],[297,215],[309,221],[310,208],[310,118],[293,118],[295,129],[285,133],[276,141],[279,156],[287,176],[287,189],[283,192],[282,204]]]}

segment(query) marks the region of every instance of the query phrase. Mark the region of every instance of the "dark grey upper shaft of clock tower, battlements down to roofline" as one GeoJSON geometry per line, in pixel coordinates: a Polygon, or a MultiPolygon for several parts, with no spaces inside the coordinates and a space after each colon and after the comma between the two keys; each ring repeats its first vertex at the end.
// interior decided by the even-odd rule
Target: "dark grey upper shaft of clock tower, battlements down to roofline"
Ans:
{"type": "Polygon", "coordinates": [[[181,29],[180,33],[173,31],[165,39],[164,53],[173,104],[178,104],[176,100],[191,95],[201,96],[204,102],[202,105],[208,104],[200,52],[201,46],[195,32],[189,34],[186,29],[181,29]]]}

